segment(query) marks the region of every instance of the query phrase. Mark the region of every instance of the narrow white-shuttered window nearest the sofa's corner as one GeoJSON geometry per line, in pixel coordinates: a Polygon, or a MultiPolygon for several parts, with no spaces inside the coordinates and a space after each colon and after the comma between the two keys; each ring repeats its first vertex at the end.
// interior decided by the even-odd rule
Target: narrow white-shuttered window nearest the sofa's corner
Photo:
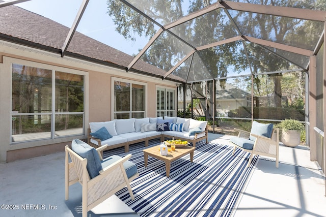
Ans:
{"type": "Polygon", "coordinates": [[[156,116],[176,116],[175,90],[158,87],[156,89],[156,116]]]}

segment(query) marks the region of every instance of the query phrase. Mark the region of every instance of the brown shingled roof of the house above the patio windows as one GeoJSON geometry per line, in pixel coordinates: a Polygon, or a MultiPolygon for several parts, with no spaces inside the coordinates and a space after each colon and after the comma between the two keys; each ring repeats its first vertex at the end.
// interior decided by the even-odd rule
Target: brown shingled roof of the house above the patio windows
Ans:
{"type": "MultiPolygon", "coordinates": [[[[13,5],[0,8],[0,23],[0,39],[56,53],[61,53],[70,30],[58,22],[13,5]]],[[[127,69],[134,58],[78,32],[73,35],[65,55],[120,69],[127,69]]],[[[166,74],[166,71],[144,61],[137,61],[132,69],[133,72],[160,78],[166,74]]],[[[177,76],[171,80],[174,79],[184,82],[177,76]]]]}

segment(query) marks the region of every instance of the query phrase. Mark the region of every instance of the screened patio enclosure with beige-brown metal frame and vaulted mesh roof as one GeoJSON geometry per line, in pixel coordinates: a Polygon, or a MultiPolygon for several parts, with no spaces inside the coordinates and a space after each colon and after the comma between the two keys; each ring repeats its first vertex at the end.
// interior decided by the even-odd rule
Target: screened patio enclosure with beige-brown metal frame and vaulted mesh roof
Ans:
{"type": "MultiPolygon", "coordinates": [[[[45,4],[0,6],[29,9],[29,2],[45,4]]],[[[227,134],[248,130],[252,120],[300,120],[302,142],[325,171],[326,0],[76,0],[61,9],[52,13],[70,32],[53,52],[92,61],[72,54],[76,32],[109,46],[121,38],[126,47],[117,49],[133,58],[120,68],[175,81],[178,116],[208,120],[211,132],[227,134]]]]}

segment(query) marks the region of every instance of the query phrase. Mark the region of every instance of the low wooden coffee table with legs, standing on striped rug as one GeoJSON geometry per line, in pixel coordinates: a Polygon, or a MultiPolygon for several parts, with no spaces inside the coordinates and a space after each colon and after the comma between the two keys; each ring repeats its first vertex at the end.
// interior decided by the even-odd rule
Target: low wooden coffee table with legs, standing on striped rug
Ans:
{"type": "Polygon", "coordinates": [[[191,146],[184,146],[184,147],[177,147],[175,151],[168,152],[167,156],[162,156],[159,152],[159,145],[156,145],[154,147],[150,147],[147,149],[144,149],[144,161],[145,161],[145,167],[147,167],[147,161],[148,161],[148,156],[151,156],[153,158],[156,158],[158,160],[164,161],[165,162],[165,167],[166,167],[166,173],[167,176],[170,176],[170,167],[171,167],[171,162],[175,161],[186,154],[190,154],[190,161],[193,162],[194,160],[194,150],[196,148],[191,147],[191,146]]]}

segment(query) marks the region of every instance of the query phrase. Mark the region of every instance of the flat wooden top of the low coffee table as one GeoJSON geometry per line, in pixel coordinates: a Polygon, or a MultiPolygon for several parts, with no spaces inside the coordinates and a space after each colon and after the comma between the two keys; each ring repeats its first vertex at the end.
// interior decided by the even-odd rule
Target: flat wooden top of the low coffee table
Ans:
{"type": "Polygon", "coordinates": [[[184,147],[176,147],[175,151],[168,152],[167,156],[163,156],[160,154],[159,145],[146,148],[143,151],[144,153],[147,153],[149,156],[155,157],[157,159],[163,161],[173,161],[181,158],[182,156],[185,156],[188,153],[194,152],[195,149],[196,148],[187,145],[184,147]]]}

